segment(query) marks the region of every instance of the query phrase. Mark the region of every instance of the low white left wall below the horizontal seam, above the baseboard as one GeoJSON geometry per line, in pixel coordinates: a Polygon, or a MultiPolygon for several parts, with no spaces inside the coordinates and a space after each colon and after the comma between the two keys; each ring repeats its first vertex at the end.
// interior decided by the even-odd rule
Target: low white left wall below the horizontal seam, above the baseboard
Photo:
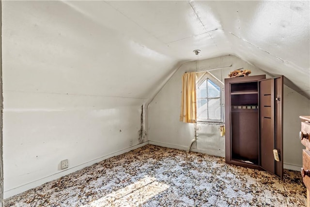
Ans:
{"type": "Polygon", "coordinates": [[[137,145],[140,105],[126,98],[4,92],[4,196],[124,153],[130,140],[137,145]],[[55,176],[63,159],[70,169],[55,176]]]}

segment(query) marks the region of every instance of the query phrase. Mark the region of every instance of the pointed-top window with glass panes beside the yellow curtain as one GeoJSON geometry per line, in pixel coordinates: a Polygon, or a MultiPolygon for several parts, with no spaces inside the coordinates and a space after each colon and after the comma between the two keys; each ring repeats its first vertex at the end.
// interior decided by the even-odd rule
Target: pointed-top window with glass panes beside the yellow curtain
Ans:
{"type": "Polygon", "coordinates": [[[196,103],[198,122],[223,122],[223,83],[209,72],[198,73],[196,103]]]}

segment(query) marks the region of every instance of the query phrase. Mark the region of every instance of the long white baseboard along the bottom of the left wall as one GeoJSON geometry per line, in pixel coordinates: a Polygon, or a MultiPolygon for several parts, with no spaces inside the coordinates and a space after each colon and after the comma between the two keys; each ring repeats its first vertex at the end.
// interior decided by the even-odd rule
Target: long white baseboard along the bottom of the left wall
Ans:
{"type": "Polygon", "coordinates": [[[128,148],[125,148],[125,149],[122,149],[122,150],[119,150],[117,152],[114,152],[114,153],[111,153],[111,154],[108,154],[108,155],[105,155],[105,156],[102,156],[100,158],[97,158],[97,159],[93,159],[93,160],[90,160],[88,162],[85,162],[85,163],[82,163],[80,165],[77,165],[77,166],[74,166],[74,167],[71,167],[71,168],[68,168],[66,170],[63,170],[61,172],[58,172],[58,173],[55,173],[55,174],[52,174],[52,175],[48,175],[46,177],[43,177],[43,178],[40,178],[40,179],[37,179],[37,180],[34,180],[32,182],[29,182],[29,183],[26,183],[24,185],[21,185],[21,186],[18,186],[16,188],[13,188],[13,189],[10,189],[10,190],[7,190],[7,191],[4,191],[3,192],[3,198],[6,199],[6,198],[9,198],[13,195],[16,195],[18,193],[21,193],[21,192],[24,192],[24,191],[27,191],[27,190],[30,190],[32,188],[35,188],[35,187],[38,187],[40,185],[43,185],[44,183],[47,183],[49,181],[52,181],[52,180],[55,180],[55,179],[58,179],[64,175],[68,175],[70,173],[74,173],[78,170],[81,170],[85,167],[88,167],[88,166],[91,166],[97,162],[100,162],[102,160],[105,160],[105,159],[108,159],[108,158],[111,158],[111,157],[114,157],[114,156],[117,156],[117,155],[121,155],[121,154],[124,154],[126,152],[129,152],[131,150],[134,150],[134,149],[137,149],[141,146],[144,146],[144,145],[147,145],[149,142],[146,141],[144,143],[141,143],[141,144],[137,144],[135,146],[131,146],[131,147],[128,147],[128,148]]]}

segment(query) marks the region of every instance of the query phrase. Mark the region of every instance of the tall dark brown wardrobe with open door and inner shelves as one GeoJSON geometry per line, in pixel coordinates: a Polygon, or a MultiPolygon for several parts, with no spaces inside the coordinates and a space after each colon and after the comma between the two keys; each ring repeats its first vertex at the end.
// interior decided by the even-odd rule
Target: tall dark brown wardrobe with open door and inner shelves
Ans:
{"type": "Polygon", "coordinates": [[[283,178],[283,76],[225,79],[225,161],[283,178]]]}

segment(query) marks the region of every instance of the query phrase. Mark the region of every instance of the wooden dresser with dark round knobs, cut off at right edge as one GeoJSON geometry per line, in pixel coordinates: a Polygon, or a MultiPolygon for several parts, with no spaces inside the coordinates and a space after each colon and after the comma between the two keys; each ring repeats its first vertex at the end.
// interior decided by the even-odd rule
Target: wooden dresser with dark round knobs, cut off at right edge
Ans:
{"type": "Polygon", "coordinates": [[[302,152],[301,175],[307,187],[307,207],[310,207],[310,116],[299,116],[301,118],[301,131],[299,138],[306,149],[302,152]]]}

